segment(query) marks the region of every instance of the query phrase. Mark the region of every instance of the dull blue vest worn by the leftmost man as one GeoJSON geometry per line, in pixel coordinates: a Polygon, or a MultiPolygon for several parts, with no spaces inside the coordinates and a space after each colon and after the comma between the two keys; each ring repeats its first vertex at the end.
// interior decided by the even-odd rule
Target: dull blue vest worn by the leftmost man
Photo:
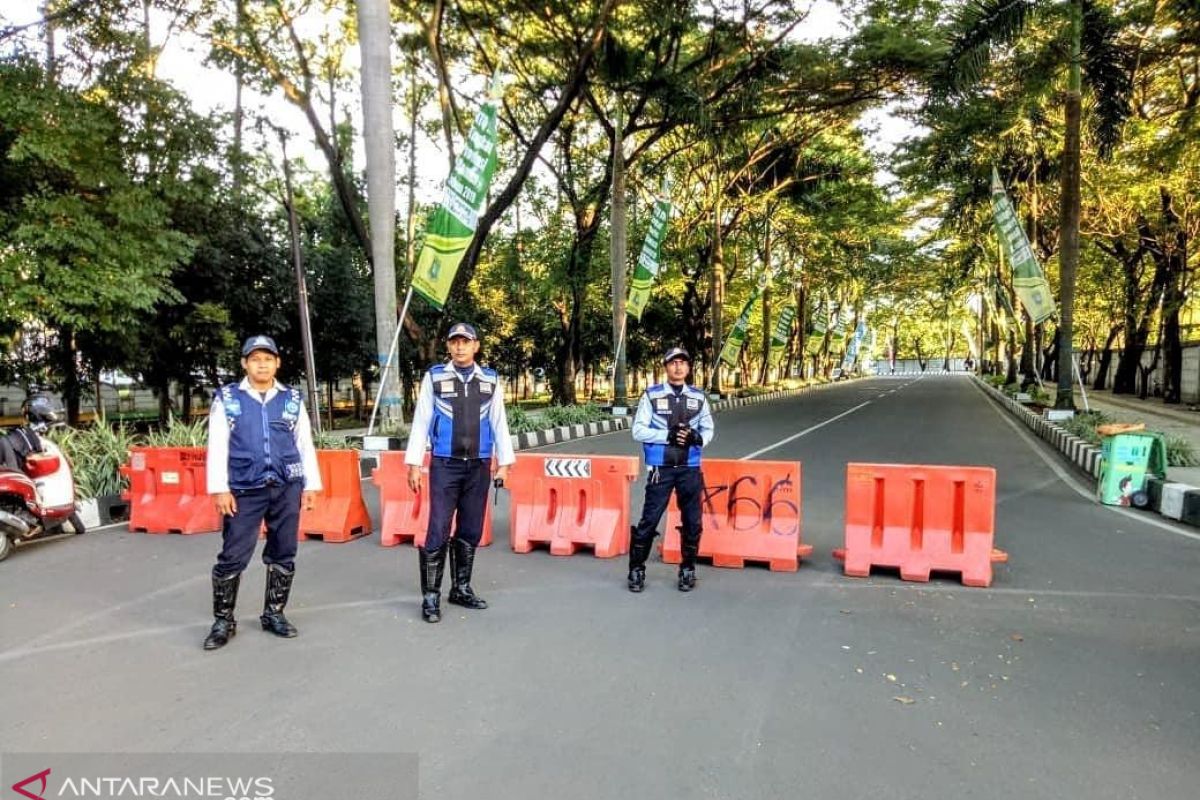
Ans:
{"type": "Polygon", "coordinates": [[[300,390],[283,385],[266,403],[238,384],[221,387],[221,405],[229,421],[230,489],[304,480],[304,459],[295,440],[300,403],[300,390]]]}

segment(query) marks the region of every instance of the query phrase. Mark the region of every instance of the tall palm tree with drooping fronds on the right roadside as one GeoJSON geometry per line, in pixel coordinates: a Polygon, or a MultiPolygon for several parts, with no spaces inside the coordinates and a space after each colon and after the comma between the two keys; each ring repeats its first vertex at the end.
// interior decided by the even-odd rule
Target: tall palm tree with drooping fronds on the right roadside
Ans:
{"type": "MultiPolygon", "coordinates": [[[[953,26],[949,50],[934,77],[935,94],[965,95],[984,77],[992,49],[1016,42],[1033,23],[1060,32],[1048,48],[1067,53],[1063,95],[1066,131],[1058,210],[1058,395],[1057,408],[1074,408],[1072,338],[1075,270],[1079,265],[1080,130],[1084,82],[1094,98],[1090,122],[1100,154],[1108,155],[1129,115],[1130,71],[1116,44],[1117,22],[1096,0],[968,0],[953,26]],[[1066,46],[1066,47],[1063,47],[1066,46]]],[[[1010,76],[1010,78],[1018,78],[1010,76]]]]}

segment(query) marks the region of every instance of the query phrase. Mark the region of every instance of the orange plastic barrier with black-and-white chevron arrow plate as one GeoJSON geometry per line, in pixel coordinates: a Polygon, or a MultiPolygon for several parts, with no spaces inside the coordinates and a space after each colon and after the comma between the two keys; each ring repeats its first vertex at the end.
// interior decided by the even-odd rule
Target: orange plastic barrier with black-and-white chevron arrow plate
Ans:
{"type": "Polygon", "coordinates": [[[581,546],[596,558],[628,553],[629,485],[637,469],[634,456],[517,453],[509,489],[512,551],[546,543],[553,555],[581,546]]]}

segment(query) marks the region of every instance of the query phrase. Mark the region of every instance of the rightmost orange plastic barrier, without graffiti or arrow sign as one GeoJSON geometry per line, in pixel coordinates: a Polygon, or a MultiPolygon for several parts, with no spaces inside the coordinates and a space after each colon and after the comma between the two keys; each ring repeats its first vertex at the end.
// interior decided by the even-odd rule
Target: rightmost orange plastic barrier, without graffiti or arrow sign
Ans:
{"type": "Polygon", "coordinates": [[[961,572],[968,587],[991,585],[996,470],[990,467],[846,465],[846,546],[834,551],[846,575],[899,567],[905,581],[930,571],[961,572]]]}

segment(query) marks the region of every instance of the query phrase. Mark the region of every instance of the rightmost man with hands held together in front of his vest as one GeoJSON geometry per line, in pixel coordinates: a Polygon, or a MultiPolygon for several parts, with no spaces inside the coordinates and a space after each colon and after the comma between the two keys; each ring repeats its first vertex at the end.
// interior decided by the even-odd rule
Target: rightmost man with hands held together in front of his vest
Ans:
{"type": "Polygon", "coordinates": [[[646,481],[642,519],[631,531],[629,548],[629,590],[646,588],[646,559],[666,511],[671,492],[676,493],[683,517],[680,530],[679,591],[696,588],[696,554],[700,553],[701,494],[704,477],[700,473],[700,450],[713,443],[713,413],[708,397],[688,385],[691,356],[683,348],[671,348],[662,359],[667,381],[646,390],[634,417],[634,439],[642,443],[650,475],[646,481]]]}

